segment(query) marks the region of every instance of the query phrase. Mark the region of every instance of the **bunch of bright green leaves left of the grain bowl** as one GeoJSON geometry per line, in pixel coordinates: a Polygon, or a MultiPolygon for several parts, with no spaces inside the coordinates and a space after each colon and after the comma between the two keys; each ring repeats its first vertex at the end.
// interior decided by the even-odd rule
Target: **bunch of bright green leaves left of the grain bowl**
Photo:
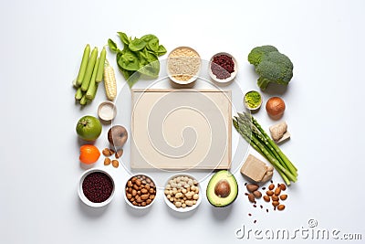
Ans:
{"type": "Polygon", "coordinates": [[[160,73],[159,57],[166,54],[166,48],[160,45],[159,38],[148,34],[141,38],[128,37],[123,32],[118,32],[123,49],[109,39],[110,50],[117,54],[117,64],[120,72],[130,88],[140,79],[141,75],[157,78],[160,73]]]}

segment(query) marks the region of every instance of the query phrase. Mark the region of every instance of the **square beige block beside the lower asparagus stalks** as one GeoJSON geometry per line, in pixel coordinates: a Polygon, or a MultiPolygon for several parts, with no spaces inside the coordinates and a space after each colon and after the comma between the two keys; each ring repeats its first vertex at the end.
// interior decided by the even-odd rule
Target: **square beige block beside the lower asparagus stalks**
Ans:
{"type": "Polygon", "coordinates": [[[241,167],[241,174],[249,177],[255,182],[260,182],[266,174],[267,167],[264,162],[249,154],[241,167]]]}

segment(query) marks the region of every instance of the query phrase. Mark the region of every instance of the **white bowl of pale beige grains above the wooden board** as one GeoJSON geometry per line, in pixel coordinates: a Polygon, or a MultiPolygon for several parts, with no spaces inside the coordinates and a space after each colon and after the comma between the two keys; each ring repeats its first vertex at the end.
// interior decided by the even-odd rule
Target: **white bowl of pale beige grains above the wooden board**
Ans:
{"type": "Polygon", "coordinates": [[[201,65],[202,60],[193,48],[174,48],[167,57],[167,74],[174,83],[189,85],[198,79],[201,65]]]}

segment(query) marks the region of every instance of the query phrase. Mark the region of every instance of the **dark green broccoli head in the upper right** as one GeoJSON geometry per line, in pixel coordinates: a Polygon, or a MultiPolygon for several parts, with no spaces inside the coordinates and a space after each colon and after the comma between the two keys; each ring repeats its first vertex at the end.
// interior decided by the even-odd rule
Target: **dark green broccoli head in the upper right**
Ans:
{"type": "Polygon", "coordinates": [[[273,46],[252,49],[248,61],[260,76],[257,85],[262,90],[266,90],[270,82],[287,85],[293,77],[293,63],[273,46]]]}

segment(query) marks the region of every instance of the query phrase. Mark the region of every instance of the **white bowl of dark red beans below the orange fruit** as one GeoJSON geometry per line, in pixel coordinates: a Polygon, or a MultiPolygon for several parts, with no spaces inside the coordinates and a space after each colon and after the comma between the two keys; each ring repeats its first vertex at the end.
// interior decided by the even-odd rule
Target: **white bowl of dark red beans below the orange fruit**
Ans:
{"type": "Polygon", "coordinates": [[[78,182],[78,196],[89,207],[108,205],[114,192],[114,180],[103,169],[91,168],[85,171],[78,182]]]}

